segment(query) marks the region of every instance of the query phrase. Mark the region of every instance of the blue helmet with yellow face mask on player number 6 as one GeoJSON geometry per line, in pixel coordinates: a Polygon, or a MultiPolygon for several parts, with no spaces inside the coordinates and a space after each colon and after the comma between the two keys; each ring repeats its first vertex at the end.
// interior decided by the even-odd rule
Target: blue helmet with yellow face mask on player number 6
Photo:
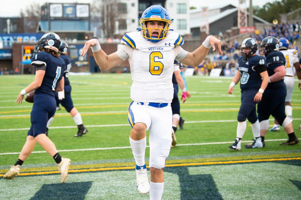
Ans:
{"type": "Polygon", "coordinates": [[[156,43],[167,37],[169,27],[172,24],[172,20],[170,19],[169,14],[165,8],[163,8],[162,6],[154,5],[146,8],[139,20],[139,23],[141,25],[142,36],[145,37],[148,41],[156,43]],[[165,26],[164,28],[147,28],[147,21],[161,21],[165,23],[165,26]],[[149,29],[158,29],[158,37],[150,36],[149,29]],[[162,33],[160,34],[161,31],[162,33]]]}

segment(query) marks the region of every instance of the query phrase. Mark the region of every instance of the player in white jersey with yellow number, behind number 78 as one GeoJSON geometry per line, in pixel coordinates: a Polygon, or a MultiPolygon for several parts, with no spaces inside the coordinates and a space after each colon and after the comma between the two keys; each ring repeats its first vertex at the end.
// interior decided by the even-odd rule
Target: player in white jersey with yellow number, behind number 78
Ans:
{"type": "MultiPolygon", "coordinates": [[[[301,79],[301,70],[300,70],[300,64],[298,59],[298,50],[296,49],[290,49],[289,48],[289,41],[288,39],[281,37],[279,39],[279,51],[283,53],[286,63],[285,63],[285,69],[286,74],[284,77],[284,83],[286,85],[286,97],[285,97],[285,114],[288,116],[288,118],[293,121],[293,108],[291,104],[291,99],[293,95],[293,89],[294,89],[294,68],[296,69],[296,74],[298,79],[301,79]]],[[[280,127],[275,119],[274,126],[270,129],[270,131],[279,131],[280,127]]]]}

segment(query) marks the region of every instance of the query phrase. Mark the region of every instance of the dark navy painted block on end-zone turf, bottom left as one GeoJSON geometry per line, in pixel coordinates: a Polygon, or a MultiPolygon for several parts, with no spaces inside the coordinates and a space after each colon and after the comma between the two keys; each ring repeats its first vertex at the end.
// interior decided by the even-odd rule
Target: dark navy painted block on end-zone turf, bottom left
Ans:
{"type": "Polygon", "coordinates": [[[84,200],[92,182],[45,184],[30,200],[84,200]]]}

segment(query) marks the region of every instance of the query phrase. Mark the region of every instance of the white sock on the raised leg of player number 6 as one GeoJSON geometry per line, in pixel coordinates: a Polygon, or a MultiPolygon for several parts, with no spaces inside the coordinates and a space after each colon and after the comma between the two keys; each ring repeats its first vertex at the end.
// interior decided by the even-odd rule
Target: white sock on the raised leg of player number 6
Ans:
{"type": "Polygon", "coordinates": [[[145,165],[145,148],[146,148],[146,136],[141,140],[133,140],[129,138],[129,143],[132,148],[132,152],[135,158],[136,165],[143,166],[145,165]]]}

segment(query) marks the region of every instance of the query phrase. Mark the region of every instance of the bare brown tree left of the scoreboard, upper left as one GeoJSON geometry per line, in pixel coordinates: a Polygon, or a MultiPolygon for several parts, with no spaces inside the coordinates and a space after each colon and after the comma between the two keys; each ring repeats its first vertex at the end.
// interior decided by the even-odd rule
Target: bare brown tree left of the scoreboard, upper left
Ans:
{"type": "Polygon", "coordinates": [[[21,9],[21,18],[24,22],[24,32],[36,32],[41,19],[41,7],[38,3],[26,6],[24,12],[21,9]]]}

